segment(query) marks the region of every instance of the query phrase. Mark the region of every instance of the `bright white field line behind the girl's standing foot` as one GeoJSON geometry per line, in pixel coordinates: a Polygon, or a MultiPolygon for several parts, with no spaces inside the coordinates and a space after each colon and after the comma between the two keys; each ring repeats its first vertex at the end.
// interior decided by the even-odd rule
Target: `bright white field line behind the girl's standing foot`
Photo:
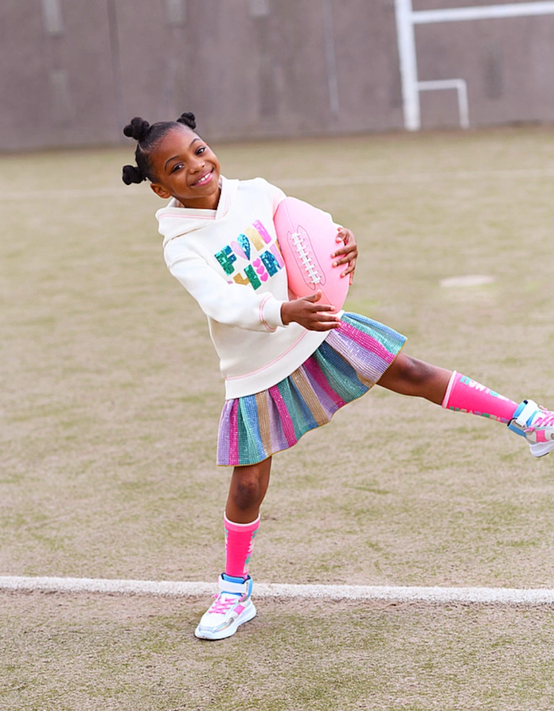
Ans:
{"type": "MultiPolygon", "coordinates": [[[[0,590],[207,597],[217,592],[217,586],[207,582],[0,576],[0,590]]],[[[258,598],[278,597],[281,599],[390,600],[391,602],[424,602],[430,604],[452,604],[457,602],[506,605],[554,604],[554,590],[545,588],[396,587],[388,585],[255,583],[254,596],[258,598]]]]}

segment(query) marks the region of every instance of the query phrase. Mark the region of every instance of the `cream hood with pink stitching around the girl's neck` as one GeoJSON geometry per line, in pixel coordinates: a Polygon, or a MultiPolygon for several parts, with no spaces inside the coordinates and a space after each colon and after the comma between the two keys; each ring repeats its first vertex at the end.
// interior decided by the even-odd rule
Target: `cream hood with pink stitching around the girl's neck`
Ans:
{"type": "Polygon", "coordinates": [[[238,180],[228,180],[221,176],[219,184],[221,195],[217,210],[197,210],[194,208],[183,208],[176,198],[171,198],[165,208],[161,208],[156,213],[158,220],[158,232],[163,235],[163,246],[170,240],[182,235],[188,235],[195,230],[205,228],[207,222],[221,220],[227,215],[239,188],[238,180]]]}

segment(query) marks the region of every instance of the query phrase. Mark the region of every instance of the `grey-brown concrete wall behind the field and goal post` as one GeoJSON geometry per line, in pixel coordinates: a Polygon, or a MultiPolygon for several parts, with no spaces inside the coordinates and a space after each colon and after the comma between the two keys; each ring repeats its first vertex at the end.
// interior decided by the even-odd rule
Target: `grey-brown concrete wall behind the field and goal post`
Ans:
{"type": "MultiPolygon", "coordinates": [[[[413,0],[413,9],[497,0],[413,0]]],[[[554,15],[415,27],[472,125],[554,121],[554,15]]],[[[139,114],[214,138],[403,128],[394,0],[2,0],[0,149],[110,144],[139,114]]],[[[457,125],[422,92],[423,128],[457,125]]]]}

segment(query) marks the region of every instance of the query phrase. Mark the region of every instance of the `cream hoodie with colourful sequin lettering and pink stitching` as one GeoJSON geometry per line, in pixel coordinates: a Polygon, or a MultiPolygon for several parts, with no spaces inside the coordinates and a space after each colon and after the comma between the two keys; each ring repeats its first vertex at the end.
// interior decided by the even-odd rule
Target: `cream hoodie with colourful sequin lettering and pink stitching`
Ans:
{"type": "Polygon", "coordinates": [[[183,208],[173,198],[156,218],[168,269],[207,316],[231,399],[286,378],[327,331],[281,321],[288,284],[273,215],[283,191],[263,178],[221,181],[217,210],[183,208]]]}

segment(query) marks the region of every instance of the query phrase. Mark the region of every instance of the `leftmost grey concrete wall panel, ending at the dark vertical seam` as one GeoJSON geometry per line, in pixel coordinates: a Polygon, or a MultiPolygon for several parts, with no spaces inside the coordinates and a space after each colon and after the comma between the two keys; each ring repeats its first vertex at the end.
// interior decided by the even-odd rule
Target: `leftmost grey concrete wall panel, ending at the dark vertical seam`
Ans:
{"type": "Polygon", "coordinates": [[[105,6],[63,0],[60,11],[63,31],[51,34],[40,0],[3,0],[1,149],[116,140],[105,6]]]}

